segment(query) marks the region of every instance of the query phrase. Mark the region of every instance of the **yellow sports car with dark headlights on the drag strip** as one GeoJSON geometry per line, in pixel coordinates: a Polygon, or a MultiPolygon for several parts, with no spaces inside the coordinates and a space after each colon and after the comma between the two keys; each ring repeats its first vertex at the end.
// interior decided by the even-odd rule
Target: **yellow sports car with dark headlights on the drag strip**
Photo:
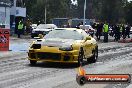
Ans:
{"type": "Polygon", "coordinates": [[[31,65],[37,61],[82,64],[84,60],[96,62],[98,45],[94,38],[82,29],[57,28],[42,39],[33,41],[28,59],[31,65]]]}

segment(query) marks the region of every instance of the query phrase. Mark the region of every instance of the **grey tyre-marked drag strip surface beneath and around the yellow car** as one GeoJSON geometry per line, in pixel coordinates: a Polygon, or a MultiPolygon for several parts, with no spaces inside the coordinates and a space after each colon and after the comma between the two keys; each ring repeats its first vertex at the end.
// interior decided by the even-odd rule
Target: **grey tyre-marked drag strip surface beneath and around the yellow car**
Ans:
{"type": "MultiPolygon", "coordinates": [[[[83,67],[90,74],[132,73],[132,47],[126,46],[99,48],[96,63],[83,67]]],[[[0,88],[126,88],[130,84],[89,84],[79,86],[76,68],[71,65],[38,63],[30,66],[27,55],[15,55],[0,60],[0,88]]]]}

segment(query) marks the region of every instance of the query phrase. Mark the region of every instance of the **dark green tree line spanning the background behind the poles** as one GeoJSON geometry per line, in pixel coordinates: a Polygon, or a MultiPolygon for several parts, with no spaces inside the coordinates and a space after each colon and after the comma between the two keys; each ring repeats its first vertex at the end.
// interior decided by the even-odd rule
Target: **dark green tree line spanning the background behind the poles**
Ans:
{"type": "MultiPolygon", "coordinates": [[[[46,7],[47,22],[50,23],[52,18],[83,18],[84,1],[77,0],[77,5],[73,5],[71,0],[25,0],[25,4],[27,16],[34,22],[44,22],[46,7]]],[[[87,0],[88,19],[109,23],[130,22],[131,12],[131,2],[127,0],[87,0]]]]}

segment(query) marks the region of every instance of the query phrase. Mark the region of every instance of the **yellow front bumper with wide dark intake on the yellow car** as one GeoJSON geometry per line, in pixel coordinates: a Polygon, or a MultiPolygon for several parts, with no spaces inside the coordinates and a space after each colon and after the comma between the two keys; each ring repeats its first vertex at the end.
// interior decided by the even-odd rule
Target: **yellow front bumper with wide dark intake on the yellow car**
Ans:
{"type": "Polygon", "coordinates": [[[41,50],[30,50],[28,53],[29,60],[42,62],[60,62],[60,63],[77,63],[78,50],[73,51],[51,51],[42,52],[41,50]]]}

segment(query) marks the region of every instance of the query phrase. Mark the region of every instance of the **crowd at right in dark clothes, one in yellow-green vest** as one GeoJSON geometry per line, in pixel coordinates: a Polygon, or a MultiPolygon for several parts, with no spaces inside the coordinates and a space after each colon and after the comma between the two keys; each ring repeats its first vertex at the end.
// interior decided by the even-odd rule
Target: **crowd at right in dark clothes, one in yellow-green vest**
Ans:
{"type": "Polygon", "coordinates": [[[97,40],[100,40],[101,36],[104,36],[104,42],[108,42],[108,36],[114,37],[114,41],[119,41],[121,38],[130,38],[130,25],[116,24],[110,25],[108,23],[94,23],[92,27],[96,30],[95,36],[97,40]]]}

